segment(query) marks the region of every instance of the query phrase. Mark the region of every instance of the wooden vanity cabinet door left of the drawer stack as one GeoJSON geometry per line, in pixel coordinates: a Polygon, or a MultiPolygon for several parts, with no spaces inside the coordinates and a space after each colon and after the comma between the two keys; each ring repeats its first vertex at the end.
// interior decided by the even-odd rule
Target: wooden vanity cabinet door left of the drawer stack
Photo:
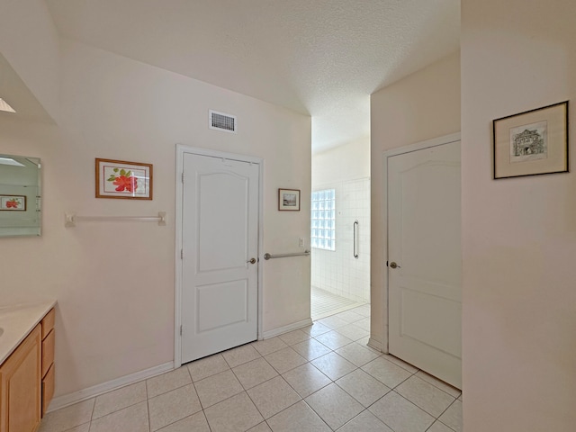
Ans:
{"type": "Polygon", "coordinates": [[[0,366],[0,432],[33,432],[41,418],[41,325],[0,366]]]}

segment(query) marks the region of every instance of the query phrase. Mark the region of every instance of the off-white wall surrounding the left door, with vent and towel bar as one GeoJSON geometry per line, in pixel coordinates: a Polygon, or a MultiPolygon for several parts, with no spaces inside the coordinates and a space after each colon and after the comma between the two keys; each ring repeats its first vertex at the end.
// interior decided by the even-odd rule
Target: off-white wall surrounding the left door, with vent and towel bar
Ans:
{"type": "MultiPolygon", "coordinates": [[[[1,302],[58,299],[57,396],[174,358],[176,143],[265,159],[261,254],[308,237],[311,184],[310,117],[68,40],[61,51],[59,127],[0,116],[3,151],[43,162],[43,235],[0,238],[1,302]],[[209,109],[237,115],[238,134],[209,130],[209,109]],[[94,198],[95,157],[153,164],[154,200],[94,198]],[[302,211],[277,211],[279,187],[302,190],[302,211]],[[65,211],[168,220],[66,229],[65,211]]],[[[261,263],[264,330],[309,319],[310,260],[261,263]]]]}

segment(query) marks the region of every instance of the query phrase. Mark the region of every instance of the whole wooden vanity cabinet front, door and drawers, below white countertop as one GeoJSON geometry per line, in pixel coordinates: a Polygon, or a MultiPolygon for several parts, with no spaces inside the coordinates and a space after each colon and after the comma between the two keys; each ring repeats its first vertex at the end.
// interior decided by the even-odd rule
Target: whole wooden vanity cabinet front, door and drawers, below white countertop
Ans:
{"type": "Polygon", "coordinates": [[[0,432],[34,432],[54,395],[54,310],[0,365],[0,432]]]}

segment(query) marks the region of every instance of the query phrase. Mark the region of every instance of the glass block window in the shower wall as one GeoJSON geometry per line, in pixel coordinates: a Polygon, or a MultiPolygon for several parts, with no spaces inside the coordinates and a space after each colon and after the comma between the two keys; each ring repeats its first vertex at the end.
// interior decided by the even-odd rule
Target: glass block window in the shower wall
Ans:
{"type": "Polygon", "coordinates": [[[312,192],[311,247],[336,250],[336,190],[312,192]]]}

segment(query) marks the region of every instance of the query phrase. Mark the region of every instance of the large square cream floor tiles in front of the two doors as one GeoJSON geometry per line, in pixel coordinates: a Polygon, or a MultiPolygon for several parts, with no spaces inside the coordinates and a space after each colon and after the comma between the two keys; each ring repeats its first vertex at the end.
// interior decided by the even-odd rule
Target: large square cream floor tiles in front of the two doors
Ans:
{"type": "Polygon", "coordinates": [[[367,347],[368,305],[47,414],[40,432],[460,432],[462,393],[367,347]]]}

